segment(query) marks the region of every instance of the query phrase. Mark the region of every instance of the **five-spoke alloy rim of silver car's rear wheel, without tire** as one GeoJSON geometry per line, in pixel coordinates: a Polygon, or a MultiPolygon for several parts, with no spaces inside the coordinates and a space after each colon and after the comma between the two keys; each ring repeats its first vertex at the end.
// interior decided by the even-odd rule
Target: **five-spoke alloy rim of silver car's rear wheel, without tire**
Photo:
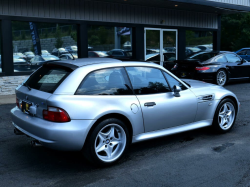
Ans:
{"type": "Polygon", "coordinates": [[[115,161],[124,152],[126,142],[126,133],[120,125],[106,125],[95,139],[95,153],[103,162],[115,161]]]}

